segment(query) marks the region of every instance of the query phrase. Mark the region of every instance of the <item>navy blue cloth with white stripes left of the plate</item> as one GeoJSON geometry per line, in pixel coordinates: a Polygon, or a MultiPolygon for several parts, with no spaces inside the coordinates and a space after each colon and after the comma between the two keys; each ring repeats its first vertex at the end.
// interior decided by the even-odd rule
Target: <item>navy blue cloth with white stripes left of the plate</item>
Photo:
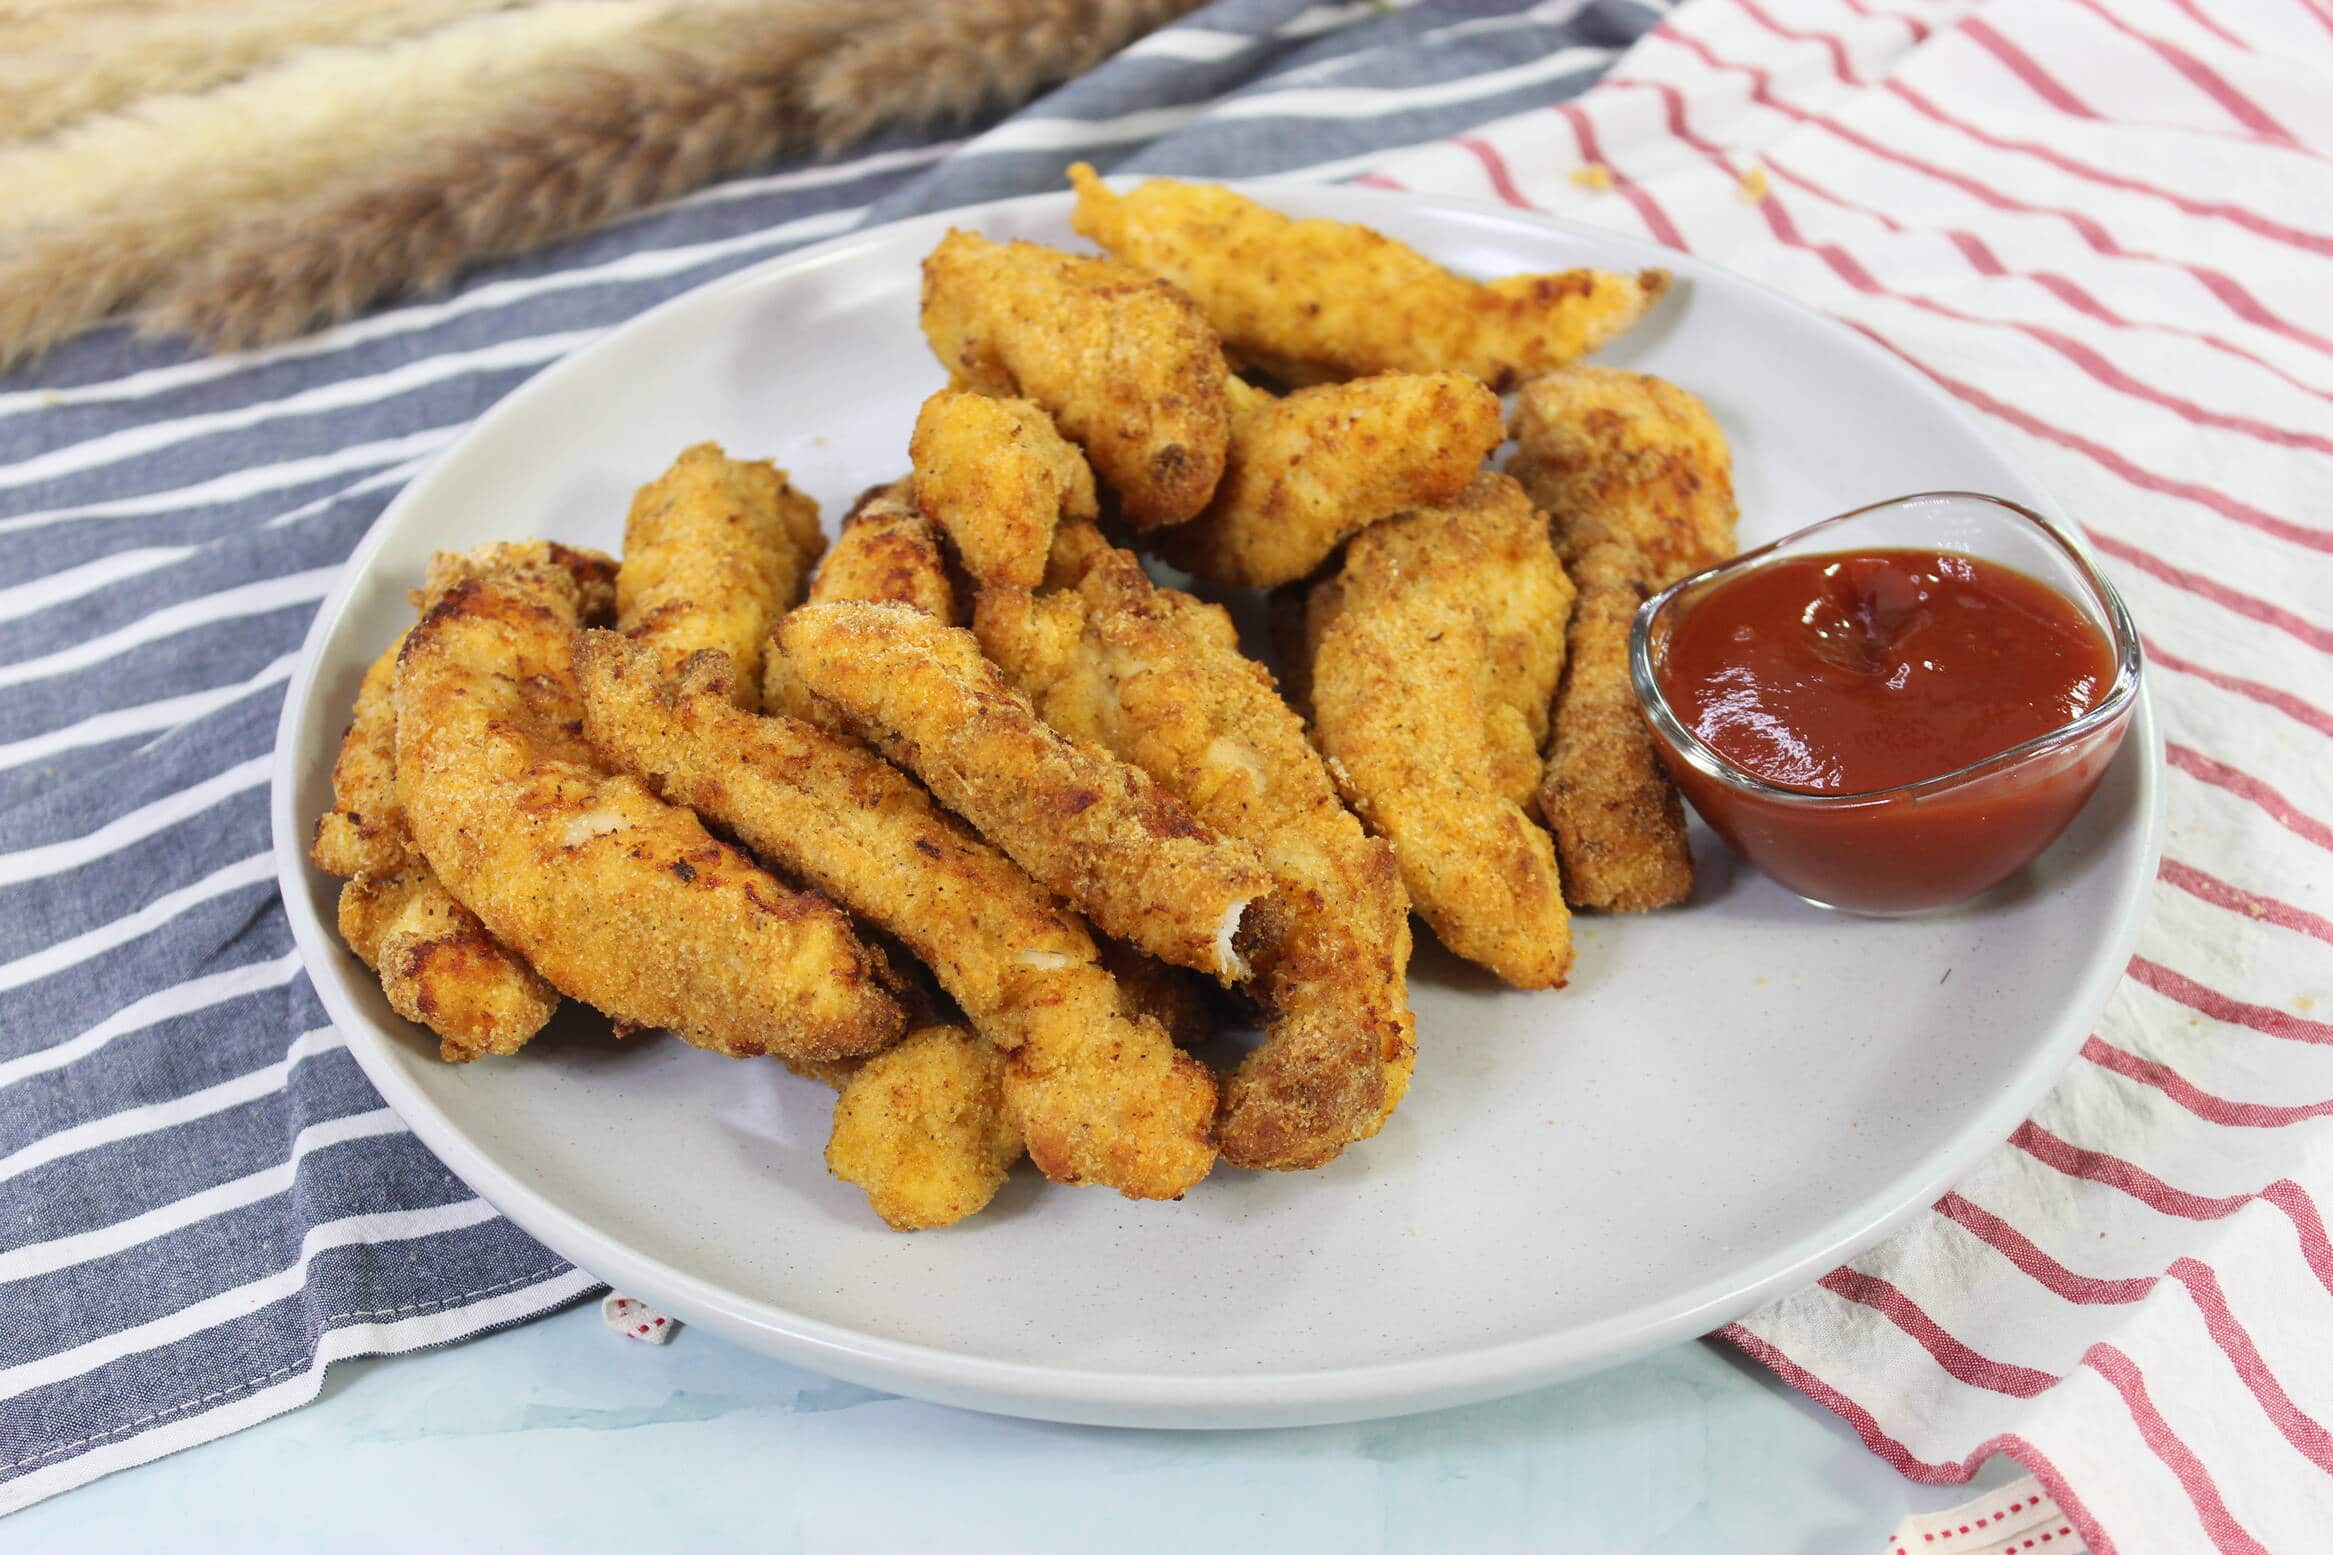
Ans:
{"type": "Polygon", "coordinates": [[[595,1287],[387,1112],[301,972],[268,751],[397,490],[541,366],[856,226],[1085,156],[1351,177],[1568,98],[1645,5],[1220,0],[968,140],[891,138],[289,347],[0,378],[0,1511],[595,1287]]]}

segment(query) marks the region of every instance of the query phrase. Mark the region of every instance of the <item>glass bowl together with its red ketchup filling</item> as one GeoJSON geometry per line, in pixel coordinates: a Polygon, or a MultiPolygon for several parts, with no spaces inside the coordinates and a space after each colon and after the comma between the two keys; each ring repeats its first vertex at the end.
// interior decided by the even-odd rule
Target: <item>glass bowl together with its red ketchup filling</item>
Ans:
{"type": "Polygon", "coordinates": [[[1645,604],[1654,748],[1736,853],[1820,907],[1913,914],[2023,870],[2123,744],[2139,634],[1999,497],[1810,525],[1645,604]]]}

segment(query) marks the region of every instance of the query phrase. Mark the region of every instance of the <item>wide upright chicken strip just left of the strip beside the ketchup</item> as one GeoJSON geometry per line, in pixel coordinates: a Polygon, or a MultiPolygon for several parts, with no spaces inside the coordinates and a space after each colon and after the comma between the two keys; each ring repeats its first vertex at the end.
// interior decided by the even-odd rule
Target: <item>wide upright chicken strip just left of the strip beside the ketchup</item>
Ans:
{"type": "Polygon", "coordinates": [[[1519,988],[1561,986],[1572,963],[1554,844],[1500,788],[1528,723],[1516,704],[1554,685],[1498,685],[1512,662],[1498,646],[1509,608],[1486,601],[1535,597],[1512,620],[1561,634],[1551,576],[1547,520],[1512,480],[1481,476],[1444,508],[1358,534],[1313,587],[1306,620],[1313,718],[1337,786],[1393,844],[1442,944],[1519,988]],[[1544,555],[1526,564],[1535,550],[1544,555]]]}

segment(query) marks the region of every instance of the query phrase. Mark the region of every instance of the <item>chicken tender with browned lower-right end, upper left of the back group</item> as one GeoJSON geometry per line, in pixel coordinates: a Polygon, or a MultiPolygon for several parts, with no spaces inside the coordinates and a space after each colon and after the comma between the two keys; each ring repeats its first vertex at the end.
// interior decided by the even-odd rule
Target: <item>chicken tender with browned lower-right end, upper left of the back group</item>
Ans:
{"type": "Polygon", "coordinates": [[[924,336],[961,387],[1052,413],[1132,527],[1180,525],[1213,497],[1229,371],[1173,287],[1111,259],[952,231],[924,259],[924,336]]]}

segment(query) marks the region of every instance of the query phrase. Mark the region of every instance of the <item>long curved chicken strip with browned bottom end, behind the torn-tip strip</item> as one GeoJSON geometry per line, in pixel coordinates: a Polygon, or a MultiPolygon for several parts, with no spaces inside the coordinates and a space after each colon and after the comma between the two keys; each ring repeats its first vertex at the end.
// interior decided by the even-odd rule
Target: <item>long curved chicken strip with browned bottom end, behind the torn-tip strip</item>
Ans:
{"type": "Polygon", "coordinates": [[[1071,587],[982,590],[973,625],[1057,730],[1141,767],[1271,870],[1281,933],[1250,984],[1269,1023],[1225,1086],[1225,1159],[1323,1166],[1374,1133],[1416,1049],[1409,898],[1222,608],[1104,548],[1071,587]]]}

